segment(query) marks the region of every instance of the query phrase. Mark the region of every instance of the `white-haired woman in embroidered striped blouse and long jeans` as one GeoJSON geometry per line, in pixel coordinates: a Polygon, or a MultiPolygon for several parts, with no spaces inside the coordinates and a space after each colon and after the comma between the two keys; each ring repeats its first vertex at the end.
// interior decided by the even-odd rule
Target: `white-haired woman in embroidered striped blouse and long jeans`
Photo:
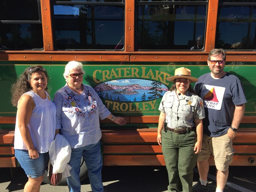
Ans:
{"type": "Polygon", "coordinates": [[[101,177],[102,155],[100,150],[100,119],[108,118],[124,125],[123,117],[114,116],[100,100],[95,90],[83,84],[82,63],[70,61],[63,74],[66,85],[54,95],[57,107],[56,132],[64,135],[71,146],[70,177],[67,184],[70,192],[81,190],[79,181],[80,163],[83,158],[88,169],[93,192],[103,192],[101,177]]]}

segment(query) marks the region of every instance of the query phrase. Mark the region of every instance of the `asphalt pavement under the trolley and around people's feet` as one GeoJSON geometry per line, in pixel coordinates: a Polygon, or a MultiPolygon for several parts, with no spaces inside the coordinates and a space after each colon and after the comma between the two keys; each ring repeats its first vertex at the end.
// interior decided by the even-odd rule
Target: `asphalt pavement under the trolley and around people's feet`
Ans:
{"type": "MultiPolygon", "coordinates": [[[[0,192],[23,192],[27,177],[22,168],[0,168],[0,192]]],[[[209,171],[210,192],[215,192],[215,168],[209,171]]],[[[195,168],[194,184],[199,175],[195,168]]],[[[164,166],[104,166],[104,192],[167,192],[168,175],[164,166]]],[[[91,192],[89,179],[82,181],[82,192],[91,192]]],[[[67,186],[41,185],[41,192],[68,192],[67,186]]],[[[256,192],[256,166],[230,166],[224,192],[256,192]]]]}

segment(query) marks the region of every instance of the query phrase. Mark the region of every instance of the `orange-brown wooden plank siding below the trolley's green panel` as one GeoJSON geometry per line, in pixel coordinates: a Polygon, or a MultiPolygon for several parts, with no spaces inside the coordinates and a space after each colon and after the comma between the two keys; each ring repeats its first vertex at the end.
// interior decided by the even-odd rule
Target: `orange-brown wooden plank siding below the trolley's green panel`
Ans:
{"type": "MultiPolygon", "coordinates": [[[[115,127],[110,120],[101,121],[104,165],[165,165],[161,146],[156,142],[157,128],[151,128],[157,127],[158,116],[126,116],[126,121],[123,127],[115,127]]],[[[13,124],[14,129],[15,117],[0,117],[0,128],[4,124],[13,124]]],[[[233,140],[236,152],[231,165],[256,165],[255,125],[256,116],[243,117],[233,140]]],[[[0,129],[0,167],[19,166],[14,157],[13,129],[0,129]]],[[[212,158],[210,165],[213,165],[212,158]]]]}

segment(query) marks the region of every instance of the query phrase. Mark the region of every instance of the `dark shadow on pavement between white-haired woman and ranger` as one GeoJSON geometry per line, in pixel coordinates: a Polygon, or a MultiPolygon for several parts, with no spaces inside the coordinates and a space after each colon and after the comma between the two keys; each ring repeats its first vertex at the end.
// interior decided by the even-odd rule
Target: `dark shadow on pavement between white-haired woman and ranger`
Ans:
{"type": "Polygon", "coordinates": [[[168,174],[165,166],[105,166],[102,182],[112,181],[104,186],[104,192],[163,192],[167,191],[168,174]],[[109,177],[108,172],[113,172],[109,177]],[[156,185],[157,183],[157,185],[156,185]]]}

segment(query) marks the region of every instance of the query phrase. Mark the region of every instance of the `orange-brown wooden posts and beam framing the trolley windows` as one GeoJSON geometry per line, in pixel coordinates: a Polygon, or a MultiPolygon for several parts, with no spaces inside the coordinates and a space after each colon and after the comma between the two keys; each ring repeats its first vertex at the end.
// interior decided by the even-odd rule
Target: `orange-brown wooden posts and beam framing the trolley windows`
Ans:
{"type": "MultiPolygon", "coordinates": [[[[106,65],[111,61],[119,62],[205,62],[208,53],[215,47],[215,26],[217,22],[218,0],[208,0],[207,28],[205,35],[205,49],[201,52],[138,52],[134,48],[134,28],[135,28],[135,1],[125,1],[125,46],[123,52],[109,51],[57,51],[54,49],[52,33],[51,0],[41,1],[41,15],[43,26],[44,50],[24,50],[11,51],[0,50],[0,62],[17,61],[32,62],[36,61],[105,61],[106,65]]],[[[255,51],[227,51],[227,61],[255,62],[255,51]]]]}

